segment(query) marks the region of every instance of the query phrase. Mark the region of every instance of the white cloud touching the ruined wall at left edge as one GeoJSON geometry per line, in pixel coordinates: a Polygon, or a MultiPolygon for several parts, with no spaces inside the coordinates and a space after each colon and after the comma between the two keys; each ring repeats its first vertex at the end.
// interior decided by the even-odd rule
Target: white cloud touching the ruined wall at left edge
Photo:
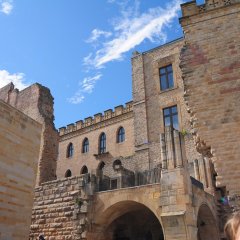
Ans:
{"type": "Polygon", "coordinates": [[[22,90],[30,85],[25,81],[25,75],[23,73],[10,74],[6,70],[0,70],[0,88],[6,86],[10,82],[13,82],[16,88],[22,90]]]}

